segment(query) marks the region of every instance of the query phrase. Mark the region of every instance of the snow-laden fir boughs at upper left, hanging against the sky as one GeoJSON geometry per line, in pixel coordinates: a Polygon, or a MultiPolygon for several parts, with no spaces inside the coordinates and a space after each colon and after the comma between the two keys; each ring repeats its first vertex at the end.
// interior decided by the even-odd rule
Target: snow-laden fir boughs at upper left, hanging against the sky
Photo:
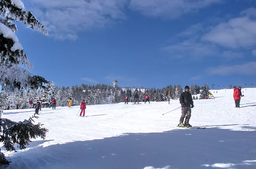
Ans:
{"type": "Polygon", "coordinates": [[[33,68],[15,32],[17,26],[13,22],[24,25],[47,35],[44,26],[27,9],[21,0],[0,1],[0,85],[6,92],[20,92],[22,89],[44,87],[48,83],[45,78],[34,76],[28,70],[20,67],[33,68]]]}

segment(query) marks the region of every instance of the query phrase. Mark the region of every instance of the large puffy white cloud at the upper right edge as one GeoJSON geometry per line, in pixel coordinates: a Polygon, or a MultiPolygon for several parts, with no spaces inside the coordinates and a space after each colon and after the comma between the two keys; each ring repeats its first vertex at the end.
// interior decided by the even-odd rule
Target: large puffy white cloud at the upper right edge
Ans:
{"type": "Polygon", "coordinates": [[[228,48],[250,49],[256,45],[256,9],[241,12],[241,17],[229,19],[206,33],[202,40],[228,48]]]}

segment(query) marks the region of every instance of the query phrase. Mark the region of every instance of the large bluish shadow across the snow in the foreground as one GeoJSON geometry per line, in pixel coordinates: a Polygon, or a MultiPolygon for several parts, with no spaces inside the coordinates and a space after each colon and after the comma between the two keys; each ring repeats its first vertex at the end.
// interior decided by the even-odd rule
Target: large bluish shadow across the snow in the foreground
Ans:
{"type": "Polygon", "coordinates": [[[14,153],[6,168],[256,168],[255,137],[219,128],[126,133],[14,153]]]}

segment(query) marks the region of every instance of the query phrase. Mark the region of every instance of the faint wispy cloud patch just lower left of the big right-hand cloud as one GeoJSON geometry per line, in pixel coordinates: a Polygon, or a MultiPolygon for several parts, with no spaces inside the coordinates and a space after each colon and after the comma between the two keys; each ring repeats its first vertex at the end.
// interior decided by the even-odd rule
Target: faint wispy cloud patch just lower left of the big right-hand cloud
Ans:
{"type": "Polygon", "coordinates": [[[183,57],[205,57],[217,55],[219,49],[214,45],[206,43],[197,43],[194,40],[185,40],[178,44],[170,45],[163,48],[168,51],[174,58],[183,57]]]}

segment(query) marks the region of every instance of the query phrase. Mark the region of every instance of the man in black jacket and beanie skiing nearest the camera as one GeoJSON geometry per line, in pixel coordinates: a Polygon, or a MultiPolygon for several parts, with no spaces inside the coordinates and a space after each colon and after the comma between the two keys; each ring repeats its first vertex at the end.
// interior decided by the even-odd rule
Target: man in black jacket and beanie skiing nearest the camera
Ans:
{"type": "Polygon", "coordinates": [[[191,117],[191,108],[194,107],[194,102],[192,99],[192,95],[189,92],[188,86],[185,86],[185,91],[180,94],[180,104],[181,104],[181,116],[180,116],[180,123],[178,126],[192,127],[188,122],[191,117]],[[184,124],[183,121],[185,117],[186,119],[184,124]]]}

